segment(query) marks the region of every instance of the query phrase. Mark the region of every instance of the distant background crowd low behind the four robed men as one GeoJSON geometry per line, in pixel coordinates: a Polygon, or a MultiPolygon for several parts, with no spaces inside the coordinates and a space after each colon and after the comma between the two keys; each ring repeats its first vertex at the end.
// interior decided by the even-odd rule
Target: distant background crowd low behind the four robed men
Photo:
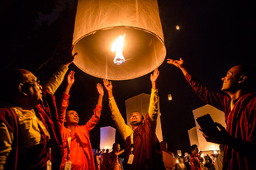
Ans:
{"type": "MultiPolygon", "coordinates": [[[[168,151],[168,145],[165,141],[160,142],[163,153],[164,168],[166,170],[221,170],[223,162],[223,151],[225,145],[220,144],[220,152],[204,154],[198,152],[197,144],[192,144],[192,154],[178,156],[168,151]]],[[[120,144],[113,144],[112,151],[102,149],[92,149],[94,155],[95,167],[97,170],[124,170],[123,155],[124,149],[120,150],[120,144]],[[106,151],[106,152],[105,152],[106,151]]]]}

